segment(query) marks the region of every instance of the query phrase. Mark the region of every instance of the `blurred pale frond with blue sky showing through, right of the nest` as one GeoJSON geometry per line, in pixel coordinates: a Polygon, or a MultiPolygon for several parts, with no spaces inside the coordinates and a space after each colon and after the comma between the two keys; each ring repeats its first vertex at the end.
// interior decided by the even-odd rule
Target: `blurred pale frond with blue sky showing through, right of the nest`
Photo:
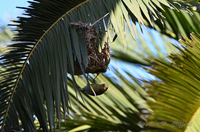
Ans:
{"type": "Polygon", "coordinates": [[[143,59],[144,57],[157,58],[167,62],[166,55],[179,52],[170,44],[172,41],[169,37],[150,28],[142,28],[142,30],[143,33],[137,31],[139,33],[136,41],[127,33],[127,47],[124,47],[121,37],[118,37],[111,47],[112,58],[132,64],[150,66],[150,63],[143,59]]]}

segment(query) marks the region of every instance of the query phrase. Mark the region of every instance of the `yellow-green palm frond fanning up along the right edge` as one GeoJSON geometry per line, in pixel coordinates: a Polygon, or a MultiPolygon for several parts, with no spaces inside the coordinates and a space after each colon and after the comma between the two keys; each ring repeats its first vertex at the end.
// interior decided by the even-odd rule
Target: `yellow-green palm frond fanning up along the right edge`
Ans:
{"type": "Polygon", "coordinates": [[[200,35],[184,38],[183,47],[177,47],[181,53],[169,56],[171,63],[149,59],[153,69],[148,71],[160,79],[147,86],[156,100],[148,103],[154,112],[146,126],[152,130],[199,131],[200,35]]]}

